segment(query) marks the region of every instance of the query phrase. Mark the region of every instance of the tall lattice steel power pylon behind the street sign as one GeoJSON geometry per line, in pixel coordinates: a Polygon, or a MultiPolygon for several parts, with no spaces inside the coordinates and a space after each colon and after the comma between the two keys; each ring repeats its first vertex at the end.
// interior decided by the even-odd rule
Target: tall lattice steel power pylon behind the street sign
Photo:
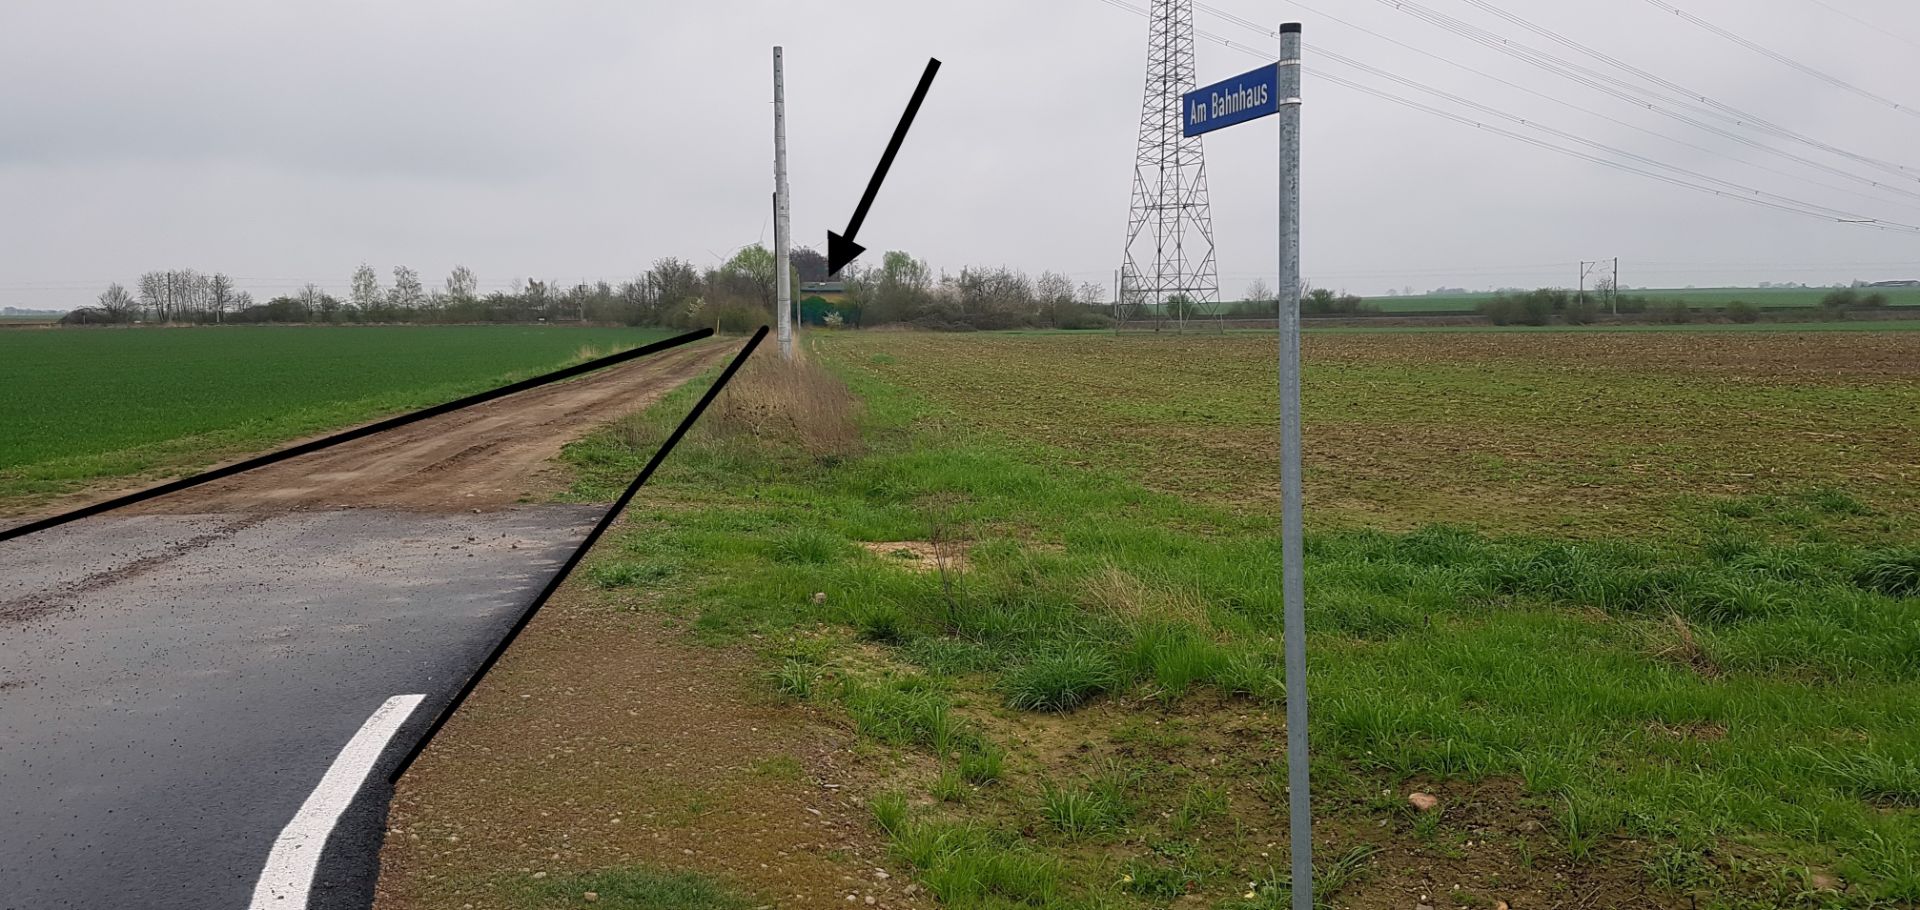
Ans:
{"type": "Polygon", "coordinates": [[[1133,163],[1127,263],[1114,317],[1175,326],[1219,311],[1213,217],[1200,136],[1181,134],[1181,96],[1194,88],[1192,0],[1154,0],[1146,29],[1146,98],[1133,163]],[[1181,305],[1169,305],[1175,298],[1181,305]]]}

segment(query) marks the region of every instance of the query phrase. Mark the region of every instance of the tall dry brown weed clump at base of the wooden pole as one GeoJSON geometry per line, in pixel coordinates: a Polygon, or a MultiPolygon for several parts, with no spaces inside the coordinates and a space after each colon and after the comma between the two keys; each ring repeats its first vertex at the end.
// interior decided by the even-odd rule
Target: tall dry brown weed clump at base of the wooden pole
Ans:
{"type": "Polygon", "coordinates": [[[858,403],[826,367],[795,351],[791,361],[760,353],[741,367],[705,420],[722,440],[791,445],[814,457],[851,455],[860,445],[858,403]]]}

